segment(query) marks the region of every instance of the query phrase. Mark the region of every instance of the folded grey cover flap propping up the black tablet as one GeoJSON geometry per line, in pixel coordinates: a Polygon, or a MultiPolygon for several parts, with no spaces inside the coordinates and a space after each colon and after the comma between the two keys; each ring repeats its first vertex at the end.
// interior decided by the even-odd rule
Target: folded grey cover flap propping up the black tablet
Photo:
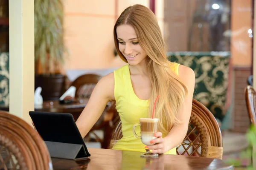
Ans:
{"type": "Polygon", "coordinates": [[[50,156],[61,159],[85,159],[87,158],[82,144],[70,144],[62,142],[44,141],[49,150],[50,156]]]}

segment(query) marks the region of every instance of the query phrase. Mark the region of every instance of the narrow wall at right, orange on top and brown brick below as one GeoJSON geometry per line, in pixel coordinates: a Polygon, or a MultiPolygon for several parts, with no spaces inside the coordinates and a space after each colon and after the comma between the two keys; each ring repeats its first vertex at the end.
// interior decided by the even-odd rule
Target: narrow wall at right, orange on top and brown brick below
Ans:
{"type": "Polygon", "coordinates": [[[246,132],[250,125],[245,104],[244,88],[251,74],[252,38],[248,30],[252,28],[252,0],[232,0],[231,54],[233,59],[234,111],[233,130],[246,132]]]}

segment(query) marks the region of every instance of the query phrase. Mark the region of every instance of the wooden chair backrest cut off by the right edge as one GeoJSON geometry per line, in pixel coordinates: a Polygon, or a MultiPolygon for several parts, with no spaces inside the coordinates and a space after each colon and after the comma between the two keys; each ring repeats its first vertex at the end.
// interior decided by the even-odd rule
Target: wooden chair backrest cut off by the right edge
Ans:
{"type": "Polygon", "coordinates": [[[245,102],[250,122],[256,125],[256,92],[250,85],[245,88],[245,102]]]}

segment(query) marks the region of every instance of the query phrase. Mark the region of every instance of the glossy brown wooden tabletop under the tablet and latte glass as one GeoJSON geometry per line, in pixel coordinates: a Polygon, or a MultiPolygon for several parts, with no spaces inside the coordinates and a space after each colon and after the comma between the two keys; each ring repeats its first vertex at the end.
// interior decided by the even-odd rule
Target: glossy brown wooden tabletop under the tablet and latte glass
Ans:
{"type": "Polygon", "coordinates": [[[161,154],[142,158],[140,152],[88,148],[88,159],[73,161],[52,158],[54,170],[232,170],[221,159],[161,154]]]}

